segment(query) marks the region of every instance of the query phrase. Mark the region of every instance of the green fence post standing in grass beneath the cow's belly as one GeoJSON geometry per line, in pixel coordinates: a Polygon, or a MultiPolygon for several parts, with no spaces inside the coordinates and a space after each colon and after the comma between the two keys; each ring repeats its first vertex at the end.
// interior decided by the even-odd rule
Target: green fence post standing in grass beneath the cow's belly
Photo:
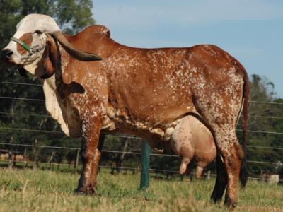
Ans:
{"type": "Polygon", "coordinates": [[[146,189],[149,187],[149,160],[150,160],[150,147],[146,141],[141,143],[141,182],[139,189],[146,189]]]}

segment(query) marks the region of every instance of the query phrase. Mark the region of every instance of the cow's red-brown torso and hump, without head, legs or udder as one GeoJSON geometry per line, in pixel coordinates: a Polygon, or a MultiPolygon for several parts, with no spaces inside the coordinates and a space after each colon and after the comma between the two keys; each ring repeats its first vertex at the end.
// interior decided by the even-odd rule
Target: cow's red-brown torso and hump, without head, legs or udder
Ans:
{"type": "MultiPolygon", "coordinates": [[[[236,59],[218,47],[125,47],[110,40],[108,31],[101,26],[87,28],[83,33],[69,37],[69,41],[79,49],[103,57],[103,61],[89,63],[69,57],[67,66],[62,69],[65,84],[74,81],[85,89],[83,95],[68,93],[65,97],[72,99],[69,102],[73,102],[71,105],[79,112],[84,111],[86,101],[91,102],[91,107],[104,115],[106,124],[102,125],[103,129],[108,129],[110,124],[111,130],[164,138],[166,134],[163,133],[175,126],[176,120],[190,113],[199,115],[197,107],[216,110],[212,104],[221,103],[221,98],[233,98],[232,93],[236,94],[233,98],[236,100],[228,101],[234,101],[236,109],[227,110],[238,110],[237,104],[241,107],[244,72],[236,59]],[[202,97],[207,100],[194,103],[194,99],[202,97]],[[207,105],[202,105],[206,102],[207,105]]],[[[233,117],[234,122],[238,112],[233,117]]],[[[218,122],[225,122],[219,112],[213,116],[214,121],[218,118],[218,122]]],[[[71,134],[80,135],[81,128],[78,127],[78,131],[71,129],[71,134]]]]}

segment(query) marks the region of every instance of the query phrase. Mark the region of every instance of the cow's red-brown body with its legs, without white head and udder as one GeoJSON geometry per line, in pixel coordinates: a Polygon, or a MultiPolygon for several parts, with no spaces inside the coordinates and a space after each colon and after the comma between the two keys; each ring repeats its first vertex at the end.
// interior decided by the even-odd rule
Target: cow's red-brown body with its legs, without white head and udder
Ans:
{"type": "MultiPolygon", "coordinates": [[[[167,142],[178,120],[195,114],[214,134],[224,158],[229,173],[226,203],[236,202],[243,151],[235,128],[248,88],[246,71],[236,59],[212,45],[126,47],[111,40],[108,29],[99,25],[68,40],[74,47],[103,58],[81,62],[61,49],[62,73],[55,72],[57,99],[69,134],[82,133],[86,138],[79,191],[86,192],[96,184],[88,176],[100,129],[143,136],[151,144],[167,142]],[[84,92],[67,92],[64,85],[72,82],[81,85],[84,92]]],[[[226,174],[219,172],[222,174],[212,194],[214,201],[221,199],[226,187],[226,174]]]]}

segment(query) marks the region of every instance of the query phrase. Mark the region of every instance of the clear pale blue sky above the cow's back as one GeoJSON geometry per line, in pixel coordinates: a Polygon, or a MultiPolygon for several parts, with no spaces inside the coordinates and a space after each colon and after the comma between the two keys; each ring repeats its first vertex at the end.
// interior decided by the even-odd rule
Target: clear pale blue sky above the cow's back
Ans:
{"type": "Polygon", "coordinates": [[[217,45],[283,98],[283,1],[93,0],[93,16],[123,45],[217,45]]]}

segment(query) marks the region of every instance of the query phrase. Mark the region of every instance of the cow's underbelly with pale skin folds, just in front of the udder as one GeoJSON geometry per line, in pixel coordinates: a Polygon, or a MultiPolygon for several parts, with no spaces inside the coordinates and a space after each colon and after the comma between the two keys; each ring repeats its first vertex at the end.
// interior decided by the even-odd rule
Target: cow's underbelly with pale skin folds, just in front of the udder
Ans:
{"type": "Polygon", "coordinates": [[[167,150],[170,148],[168,141],[171,139],[175,126],[187,114],[197,114],[194,107],[176,107],[175,110],[167,111],[168,114],[156,113],[151,119],[133,117],[130,113],[122,112],[115,107],[108,107],[106,111],[108,115],[104,120],[108,121],[104,121],[107,124],[103,125],[103,129],[115,129],[125,134],[134,134],[149,141],[151,148],[167,150]],[[168,120],[168,117],[171,118],[168,120]]]}

